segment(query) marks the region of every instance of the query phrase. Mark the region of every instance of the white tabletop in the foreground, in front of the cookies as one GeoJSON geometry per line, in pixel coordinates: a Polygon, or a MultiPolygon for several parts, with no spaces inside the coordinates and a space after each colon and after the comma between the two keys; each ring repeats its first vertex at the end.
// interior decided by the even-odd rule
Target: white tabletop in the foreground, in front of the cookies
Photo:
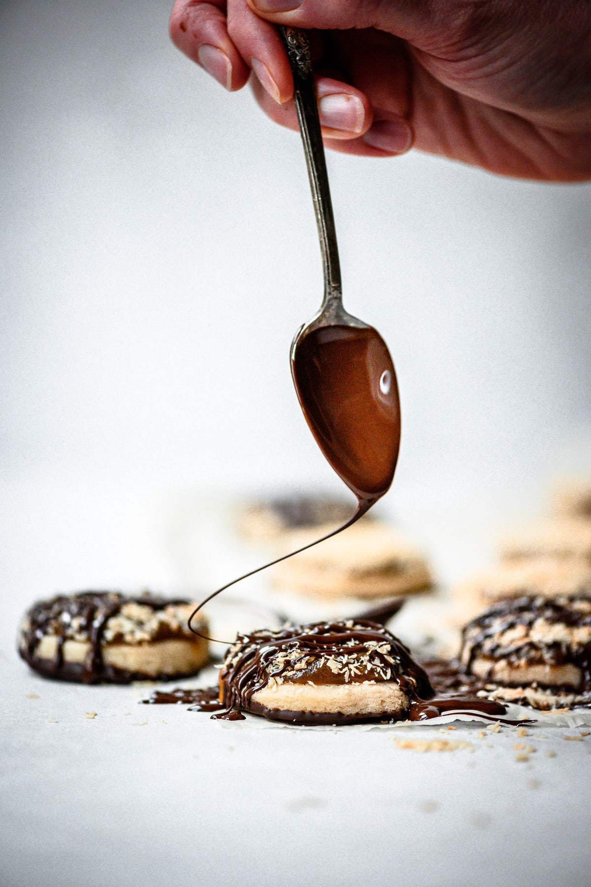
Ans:
{"type": "Polygon", "coordinates": [[[588,883],[577,731],[253,730],[139,705],[146,687],[50,683],[10,649],[2,687],[3,887],[588,883]],[[396,747],[411,734],[476,750],[396,747]]]}

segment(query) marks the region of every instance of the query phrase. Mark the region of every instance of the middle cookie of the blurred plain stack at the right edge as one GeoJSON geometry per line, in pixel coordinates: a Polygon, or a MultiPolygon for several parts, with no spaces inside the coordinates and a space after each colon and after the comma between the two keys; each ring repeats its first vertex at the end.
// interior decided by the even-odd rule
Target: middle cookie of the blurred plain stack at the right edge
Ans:
{"type": "Polygon", "coordinates": [[[515,530],[502,542],[504,563],[540,558],[591,564],[591,521],[574,518],[540,521],[515,530]]]}

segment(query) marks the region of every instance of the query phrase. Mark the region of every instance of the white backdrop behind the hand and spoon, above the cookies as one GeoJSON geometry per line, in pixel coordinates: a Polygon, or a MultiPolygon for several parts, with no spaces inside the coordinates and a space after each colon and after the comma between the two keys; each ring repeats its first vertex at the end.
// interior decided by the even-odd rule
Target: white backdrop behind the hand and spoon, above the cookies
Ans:
{"type": "MultiPolygon", "coordinates": [[[[11,638],[57,588],[193,578],[171,534],[216,488],[338,489],[288,369],[322,293],[299,138],[175,51],[168,12],[2,5],[11,638]]],[[[591,186],[419,153],[329,164],[346,306],[399,375],[385,511],[452,577],[551,475],[591,467],[591,186]]]]}

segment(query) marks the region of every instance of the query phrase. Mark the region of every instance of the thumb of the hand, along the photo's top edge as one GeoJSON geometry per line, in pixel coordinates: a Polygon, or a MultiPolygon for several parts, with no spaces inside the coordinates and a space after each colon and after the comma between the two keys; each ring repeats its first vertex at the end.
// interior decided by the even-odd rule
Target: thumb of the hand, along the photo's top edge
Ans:
{"type": "MultiPolygon", "coordinates": [[[[247,0],[253,12],[277,25],[312,27],[322,30],[375,27],[408,40],[419,40],[432,29],[439,7],[416,0],[247,0]]],[[[438,12],[439,11],[439,12],[438,12]]]]}

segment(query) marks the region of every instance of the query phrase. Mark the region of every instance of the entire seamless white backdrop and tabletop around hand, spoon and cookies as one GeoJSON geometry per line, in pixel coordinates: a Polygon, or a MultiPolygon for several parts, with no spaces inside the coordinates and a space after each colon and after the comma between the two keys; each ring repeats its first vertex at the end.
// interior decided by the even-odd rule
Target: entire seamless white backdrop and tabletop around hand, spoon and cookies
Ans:
{"type": "MultiPolygon", "coordinates": [[[[562,728],[528,764],[513,734],[419,755],[140,708],[13,652],[57,589],[210,588],[251,562],[183,547],[203,491],[337,487],[287,369],[322,288],[298,139],[168,45],[167,6],[0,8],[0,881],[583,887],[591,745],[562,728]]],[[[589,185],[329,162],[346,304],[399,374],[385,509],[459,577],[548,475],[589,467],[589,185]]]]}

